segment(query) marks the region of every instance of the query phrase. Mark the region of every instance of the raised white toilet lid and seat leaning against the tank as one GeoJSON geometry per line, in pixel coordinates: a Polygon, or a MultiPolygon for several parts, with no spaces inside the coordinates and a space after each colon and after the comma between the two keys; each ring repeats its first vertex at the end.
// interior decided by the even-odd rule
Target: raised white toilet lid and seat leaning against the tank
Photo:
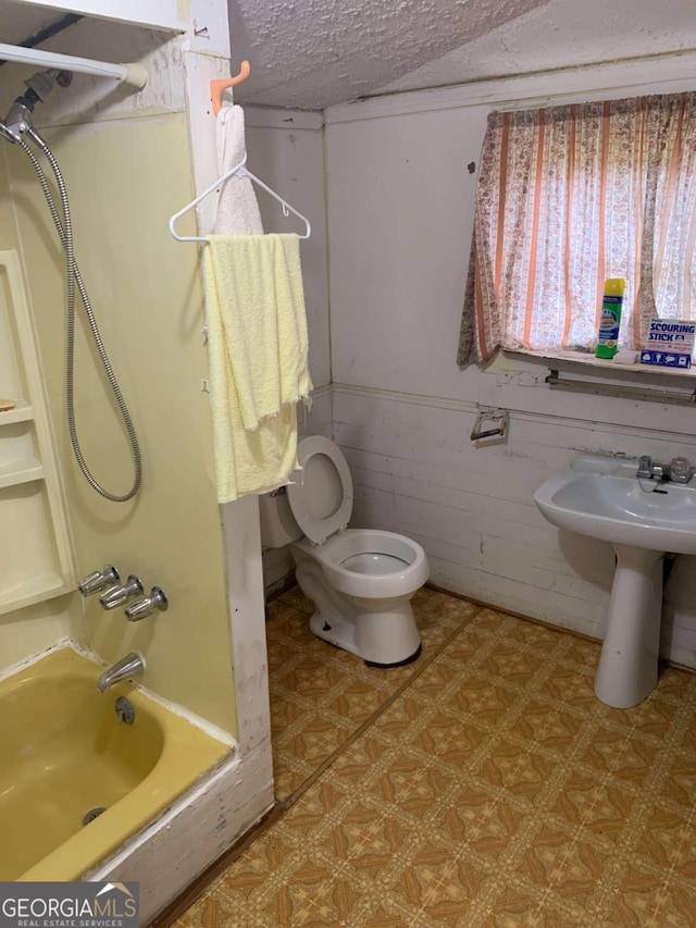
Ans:
{"type": "Polygon", "coordinates": [[[345,529],[352,512],[352,480],[338,447],[322,435],[297,446],[300,469],[293,472],[287,498],[297,524],[320,545],[345,529]]]}

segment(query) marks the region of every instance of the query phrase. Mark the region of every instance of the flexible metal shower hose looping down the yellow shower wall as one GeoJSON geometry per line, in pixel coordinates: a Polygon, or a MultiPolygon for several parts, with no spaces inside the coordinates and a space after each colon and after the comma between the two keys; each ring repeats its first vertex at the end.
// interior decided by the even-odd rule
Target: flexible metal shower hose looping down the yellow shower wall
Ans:
{"type": "Polygon", "coordinates": [[[55,175],[55,183],[58,185],[58,190],[61,198],[61,208],[63,212],[63,219],[61,220],[58,209],[55,207],[55,202],[53,200],[53,196],[48,186],[46,174],[41,169],[38,158],[25,141],[20,141],[20,145],[29,161],[32,162],[32,165],[39,178],[41,190],[44,191],[46,202],[48,203],[48,208],[53,219],[53,224],[55,225],[55,230],[58,231],[58,235],[63,246],[63,251],[65,252],[67,273],[65,399],[67,407],[67,429],[70,432],[70,442],[73,447],[73,454],[75,455],[75,459],[79,465],[80,471],[83,472],[85,479],[92,487],[92,490],[96,490],[96,492],[99,493],[100,496],[103,496],[105,499],[110,499],[112,503],[126,503],[128,499],[133,499],[133,497],[137,494],[140,488],[140,483],[142,481],[142,461],[140,459],[140,448],[138,446],[138,438],[135,432],[133,420],[130,419],[130,413],[128,412],[125,399],[123,398],[123,394],[121,393],[121,387],[119,386],[119,381],[116,380],[116,375],[114,374],[113,368],[111,367],[111,362],[109,361],[109,358],[107,356],[107,350],[101,338],[101,333],[99,332],[99,326],[97,325],[97,320],[95,318],[95,313],[89,301],[87,288],[85,287],[82,274],[79,273],[79,268],[77,267],[77,263],[75,261],[73,227],[71,222],[70,203],[67,201],[67,190],[65,188],[65,182],[63,181],[63,175],[61,174],[61,170],[53,153],[50,151],[48,146],[45,146],[44,153],[46,154],[46,158],[49,164],[51,165],[51,170],[55,175]],[[102,367],[109,380],[112,393],[119,405],[119,409],[121,410],[121,417],[123,419],[126,432],[128,433],[128,442],[130,443],[130,450],[133,453],[135,474],[133,480],[133,486],[127,493],[123,495],[110,493],[108,490],[104,490],[104,487],[101,486],[101,484],[92,477],[79,447],[79,441],[77,440],[77,426],[75,424],[75,284],[77,284],[77,289],[79,290],[79,296],[83,301],[83,306],[85,307],[87,321],[89,322],[89,327],[91,330],[92,338],[95,339],[95,345],[97,346],[102,367]]]}

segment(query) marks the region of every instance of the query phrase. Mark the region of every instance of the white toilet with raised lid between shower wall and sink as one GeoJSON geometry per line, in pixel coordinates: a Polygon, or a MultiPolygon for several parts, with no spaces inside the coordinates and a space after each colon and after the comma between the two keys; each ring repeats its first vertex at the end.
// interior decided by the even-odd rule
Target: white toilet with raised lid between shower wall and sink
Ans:
{"type": "Polygon", "coordinates": [[[298,585],[314,603],[310,630],[371,666],[415,660],[410,601],[430,577],[425,552],[394,532],[347,528],[352,480],[332,441],[303,438],[297,459],[291,482],[259,497],[261,543],[290,545],[298,585]]]}

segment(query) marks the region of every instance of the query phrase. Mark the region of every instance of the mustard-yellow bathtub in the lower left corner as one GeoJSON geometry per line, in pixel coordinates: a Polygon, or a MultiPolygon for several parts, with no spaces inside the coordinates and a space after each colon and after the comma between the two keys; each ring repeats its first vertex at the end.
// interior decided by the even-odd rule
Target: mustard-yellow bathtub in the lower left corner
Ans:
{"type": "Polygon", "coordinates": [[[0,880],[79,879],[232,750],[101,671],[62,648],[0,681],[0,880]]]}

